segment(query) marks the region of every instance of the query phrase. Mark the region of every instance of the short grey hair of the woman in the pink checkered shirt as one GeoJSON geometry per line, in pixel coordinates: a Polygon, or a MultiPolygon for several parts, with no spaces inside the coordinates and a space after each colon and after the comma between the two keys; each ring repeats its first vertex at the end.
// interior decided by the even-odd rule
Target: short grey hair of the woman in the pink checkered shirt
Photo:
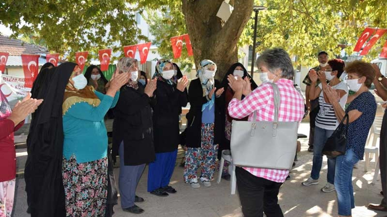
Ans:
{"type": "Polygon", "coordinates": [[[281,77],[293,80],[294,69],[289,54],[282,48],[267,49],[257,58],[257,66],[263,64],[271,73],[281,71],[281,77]]]}

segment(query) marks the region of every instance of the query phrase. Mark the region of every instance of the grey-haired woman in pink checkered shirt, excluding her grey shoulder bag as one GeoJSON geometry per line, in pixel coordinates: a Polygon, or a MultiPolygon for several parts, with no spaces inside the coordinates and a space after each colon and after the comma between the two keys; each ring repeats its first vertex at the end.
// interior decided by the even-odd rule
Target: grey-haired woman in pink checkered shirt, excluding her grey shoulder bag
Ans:
{"type": "MultiPolygon", "coordinates": [[[[257,59],[257,66],[267,72],[269,82],[276,83],[279,88],[278,120],[301,122],[304,100],[293,86],[294,69],[289,54],[281,48],[267,50],[257,59]]],[[[248,116],[252,120],[253,112],[257,111],[258,121],[274,120],[274,92],[270,84],[264,83],[252,91],[248,79],[236,80],[229,76],[228,80],[235,92],[228,106],[231,117],[248,116]],[[243,100],[242,95],[246,96],[243,100]]],[[[267,217],[283,216],[277,195],[289,170],[237,167],[235,172],[244,217],[261,217],[263,213],[267,217]]]]}

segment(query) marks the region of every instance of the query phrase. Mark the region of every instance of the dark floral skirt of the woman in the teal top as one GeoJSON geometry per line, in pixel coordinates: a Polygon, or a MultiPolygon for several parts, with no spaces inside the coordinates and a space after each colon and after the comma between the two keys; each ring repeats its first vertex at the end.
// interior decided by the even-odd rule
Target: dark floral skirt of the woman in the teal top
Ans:
{"type": "Polygon", "coordinates": [[[75,156],[63,157],[63,185],[67,217],[105,215],[108,194],[108,158],[77,163],[75,156]]]}

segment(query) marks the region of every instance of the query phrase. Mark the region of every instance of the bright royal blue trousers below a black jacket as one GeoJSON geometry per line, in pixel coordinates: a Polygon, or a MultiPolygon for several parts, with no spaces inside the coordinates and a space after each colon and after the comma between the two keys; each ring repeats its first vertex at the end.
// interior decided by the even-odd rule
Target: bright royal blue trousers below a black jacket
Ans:
{"type": "Polygon", "coordinates": [[[177,149],[172,152],[156,153],[156,160],[149,164],[148,192],[166,187],[175,170],[177,149]]]}

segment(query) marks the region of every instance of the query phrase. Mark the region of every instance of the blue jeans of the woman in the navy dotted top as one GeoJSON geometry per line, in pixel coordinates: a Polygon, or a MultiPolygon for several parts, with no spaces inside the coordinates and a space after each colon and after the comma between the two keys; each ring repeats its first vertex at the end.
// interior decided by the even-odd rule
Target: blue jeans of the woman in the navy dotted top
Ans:
{"type": "Polygon", "coordinates": [[[335,188],[339,215],[351,215],[351,209],[355,208],[353,197],[352,171],[359,158],[352,149],[345,155],[336,157],[335,188]]]}

